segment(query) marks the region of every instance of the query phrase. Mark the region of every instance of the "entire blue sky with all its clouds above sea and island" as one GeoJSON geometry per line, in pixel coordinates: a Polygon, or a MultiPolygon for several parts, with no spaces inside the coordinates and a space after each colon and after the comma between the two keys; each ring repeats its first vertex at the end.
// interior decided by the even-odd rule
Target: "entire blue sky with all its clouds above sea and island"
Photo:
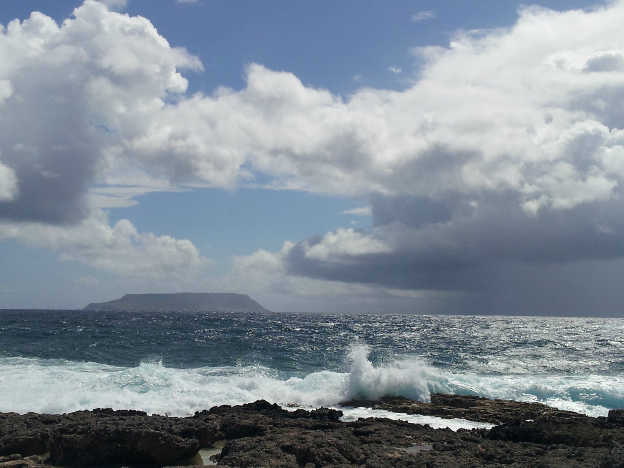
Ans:
{"type": "Polygon", "coordinates": [[[3,0],[0,308],[624,316],[624,0],[3,0]]]}

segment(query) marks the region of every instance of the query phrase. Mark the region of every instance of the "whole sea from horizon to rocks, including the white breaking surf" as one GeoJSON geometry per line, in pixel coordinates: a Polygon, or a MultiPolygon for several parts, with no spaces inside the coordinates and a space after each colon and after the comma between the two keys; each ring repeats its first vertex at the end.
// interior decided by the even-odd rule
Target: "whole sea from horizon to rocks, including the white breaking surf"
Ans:
{"type": "Polygon", "coordinates": [[[0,411],[184,416],[431,392],[624,407],[624,320],[0,311],[0,411]]]}

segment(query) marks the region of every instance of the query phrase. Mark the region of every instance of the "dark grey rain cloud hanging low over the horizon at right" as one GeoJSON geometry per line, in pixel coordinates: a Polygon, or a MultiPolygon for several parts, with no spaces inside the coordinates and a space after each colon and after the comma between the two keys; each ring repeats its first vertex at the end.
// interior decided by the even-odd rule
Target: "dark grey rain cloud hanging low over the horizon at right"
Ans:
{"type": "Polygon", "coordinates": [[[336,253],[319,260],[306,255],[323,242],[314,236],[290,250],[286,268],[290,275],[317,280],[463,291],[466,295],[447,299],[454,304],[449,310],[463,313],[617,314],[615,305],[624,292],[605,279],[622,277],[624,271],[619,195],[536,215],[524,212],[514,197],[490,194],[469,210],[456,200],[375,195],[374,236],[392,245],[391,252],[336,253]],[[608,298],[583,296],[595,283],[608,298]],[[603,309],[590,311],[592,303],[603,309]]]}

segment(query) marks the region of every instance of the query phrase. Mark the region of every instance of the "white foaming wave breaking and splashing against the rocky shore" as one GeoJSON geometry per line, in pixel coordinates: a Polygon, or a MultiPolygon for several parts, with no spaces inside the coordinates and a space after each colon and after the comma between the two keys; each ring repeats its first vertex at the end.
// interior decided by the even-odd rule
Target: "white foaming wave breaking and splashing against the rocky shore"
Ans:
{"type": "Polygon", "coordinates": [[[0,411],[64,413],[112,407],[186,416],[221,404],[265,399],[286,406],[335,406],[355,398],[404,396],[428,401],[432,392],[540,401],[590,416],[624,407],[622,376],[491,375],[436,369],[422,359],[374,366],[366,346],[349,350],[349,371],[300,378],[263,366],[135,367],[38,358],[0,358],[0,411]]]}

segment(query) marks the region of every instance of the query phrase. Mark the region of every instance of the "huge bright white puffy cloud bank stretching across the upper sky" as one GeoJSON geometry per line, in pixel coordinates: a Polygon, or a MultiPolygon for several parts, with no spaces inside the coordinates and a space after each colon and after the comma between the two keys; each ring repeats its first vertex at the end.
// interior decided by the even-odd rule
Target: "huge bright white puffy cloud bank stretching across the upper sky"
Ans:
{"type": "Polygon", "coordinates": [[[263,173],[271,187],[341,195],[512,191],[527,207],[552,208],[602,200],[620,178],[605,155],[624,127],[613,99],[624,83],[622,2],[591,12],[525,8],[509,29],[417,49],[425,65],[411,88],[364,88],[346,100],[257,64],[241,90],[187,97],[180,70],[200,62],[147,19],[92,0],[74,15],[59,26],[34,13],[0,37],[0,79],[12,89],[0,150],[23,203],[62,196],[56,205],[80,215],[86,182],[141,170],[212,187],[263,173]],[[597,127],[604,138],[590,138],[597,127]],[[575,132],[595,144],[581,157],[575,132]],[[42,186],[51,174],[57,183],[42,186]],[[57,190],[69,182],[77,188],[57,190]]]}

